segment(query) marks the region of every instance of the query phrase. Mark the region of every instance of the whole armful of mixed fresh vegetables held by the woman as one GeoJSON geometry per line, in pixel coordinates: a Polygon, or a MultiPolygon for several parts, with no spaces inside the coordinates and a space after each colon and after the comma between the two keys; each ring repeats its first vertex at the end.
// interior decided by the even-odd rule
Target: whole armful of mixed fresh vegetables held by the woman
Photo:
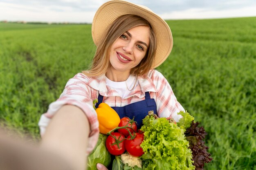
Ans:
{"type": "Polygon", "coordinates": [[[134,119],[120,119],[105,103],[96,112],[100,132],[108,136],[100,134],[97,147],[89,155],[91,170],[96,163],[108,166],[110,154],[115,155],[112,170],[203,170],[204,163],[212,160],[203,141],[207,133],[187,112],[178,113],[182,118],[176,123],[150,111],[140,130],[134,119]]]}

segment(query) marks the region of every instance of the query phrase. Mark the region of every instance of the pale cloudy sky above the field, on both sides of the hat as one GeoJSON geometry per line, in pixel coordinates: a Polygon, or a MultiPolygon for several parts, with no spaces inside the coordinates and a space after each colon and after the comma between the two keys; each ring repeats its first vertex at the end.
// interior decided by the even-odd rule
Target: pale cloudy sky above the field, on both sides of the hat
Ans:
{"type": "MultiPolygon", "coordinates": [[[[0,21],[91,23],[108,0],[0,0],[0,21]]],[[[129,0],[165,20],[256,16],[256,0],[129,0]]]]}

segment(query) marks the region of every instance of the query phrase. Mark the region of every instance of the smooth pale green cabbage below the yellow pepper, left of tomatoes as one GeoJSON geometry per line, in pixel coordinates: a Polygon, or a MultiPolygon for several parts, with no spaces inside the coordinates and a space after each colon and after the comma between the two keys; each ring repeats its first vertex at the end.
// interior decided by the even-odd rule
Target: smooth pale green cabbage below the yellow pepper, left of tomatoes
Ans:
{"type": "Polygon", "coordinates": [[[106,139],[107,139],[107,135],[103,135],[101,133],[99,134],[99,139],[97,141],[97,144],[94,150],[92,150],[92,152],[88,156],[88,161],[87,161],[88,170],[98,170],[96,168],[97,163],[101,163],[106,167],[108,167],[108,165],[110,164],[111,157],[105,145],[106,139]]]}

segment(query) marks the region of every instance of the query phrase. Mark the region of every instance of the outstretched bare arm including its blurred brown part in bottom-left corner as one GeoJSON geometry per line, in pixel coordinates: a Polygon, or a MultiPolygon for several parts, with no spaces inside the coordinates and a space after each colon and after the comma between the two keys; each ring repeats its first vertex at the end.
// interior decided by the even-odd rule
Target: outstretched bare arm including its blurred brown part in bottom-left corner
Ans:
{"type": "Polygon", "coordinates": [[[0,167],[5,170],[85,170],[90,126],[84,112],[62,106],[40,143],[0,129],[0,167]]]}

